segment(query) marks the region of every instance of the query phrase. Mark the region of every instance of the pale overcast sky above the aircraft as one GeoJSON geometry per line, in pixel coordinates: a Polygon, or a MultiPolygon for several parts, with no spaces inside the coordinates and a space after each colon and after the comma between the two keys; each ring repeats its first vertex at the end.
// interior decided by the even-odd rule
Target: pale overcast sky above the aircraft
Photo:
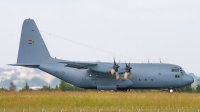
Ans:
{"type": "Polygon", "coordinates": [[[200,76],[199,0],[1,0],[0,15],[3,68],[16,63],[22,23],[31,18],[52,57],[112,62],[115,55],[133,63],[161,59],[200,76]]]}

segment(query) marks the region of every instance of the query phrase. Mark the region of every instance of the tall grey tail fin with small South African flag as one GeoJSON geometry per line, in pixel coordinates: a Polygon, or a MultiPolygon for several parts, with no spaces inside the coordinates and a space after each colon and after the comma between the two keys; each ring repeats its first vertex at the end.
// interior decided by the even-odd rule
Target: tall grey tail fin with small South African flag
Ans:
{"type": "Polygon", "coordinates": [[[50,59],[51,56],[34,20],[24,20],[17,64],[39,65],[50,59]]]}

